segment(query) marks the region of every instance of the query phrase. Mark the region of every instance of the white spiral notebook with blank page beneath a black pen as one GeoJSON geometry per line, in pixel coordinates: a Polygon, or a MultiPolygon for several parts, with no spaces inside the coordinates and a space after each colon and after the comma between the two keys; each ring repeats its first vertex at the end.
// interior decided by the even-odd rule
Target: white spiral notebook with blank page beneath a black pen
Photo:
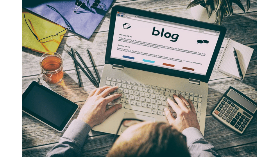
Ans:
{"type": "Polygon", "coordinates": [[[215,63],[215,69],[223,72],[224,74],[241,80],[238,73],[235,56],[233,54],[233,48],[235,48],[236,50],[239,65],[241,67],[244,79],[254,49],[240,44],[239,42],[236,42],[230,38],[225,38],[223,40],[219,55],[215,63]]]}

